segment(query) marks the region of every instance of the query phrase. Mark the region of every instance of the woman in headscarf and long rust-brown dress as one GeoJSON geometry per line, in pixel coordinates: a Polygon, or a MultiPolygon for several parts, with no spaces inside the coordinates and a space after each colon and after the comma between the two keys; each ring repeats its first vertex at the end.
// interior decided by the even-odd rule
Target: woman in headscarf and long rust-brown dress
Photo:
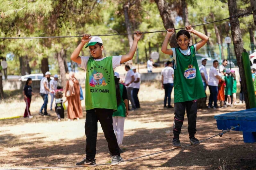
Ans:
{"type": "Polygon", "coordinates": [[[75,78],[75,73],[69,73],[69,80],[66,84],[66,97],[67,97],[67,116],[68,120],[73,120],[83,117],[82,107],[80,102],[80,85],[75,78]]]}

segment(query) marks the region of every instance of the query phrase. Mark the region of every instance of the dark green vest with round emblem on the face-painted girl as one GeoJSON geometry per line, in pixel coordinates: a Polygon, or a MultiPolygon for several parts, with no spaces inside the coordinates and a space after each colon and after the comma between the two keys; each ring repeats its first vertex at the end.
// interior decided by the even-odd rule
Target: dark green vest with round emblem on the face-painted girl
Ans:
{"type": "Polygon", "coordinates": [[[202,78],[195,57],[195,49],[193,45],[189,48],[190,55],[184,55],[179,48],[175,48],[174,103],[205,97],[202,78]]]}

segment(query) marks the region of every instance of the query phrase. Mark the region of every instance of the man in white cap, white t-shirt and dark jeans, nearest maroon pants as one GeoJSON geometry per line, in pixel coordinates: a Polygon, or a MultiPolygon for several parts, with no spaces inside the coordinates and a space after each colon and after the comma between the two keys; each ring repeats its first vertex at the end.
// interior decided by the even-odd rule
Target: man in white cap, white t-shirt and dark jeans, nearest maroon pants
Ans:
{"type": "Polygon", "coordinates": [[[42,116],[51,116],[47,113],[47,104],[48,104],[48,93],[51,93],[52,91],[49,89],[49,82],[47,78],[51,77],[51,72],[46,72],[45,76],[40,81],[40,95],[42,96],[44,100],[44,104],[42,105],[39,115],[42,116]],[[44,113],[43,113],[44,109],[44,113]]]}

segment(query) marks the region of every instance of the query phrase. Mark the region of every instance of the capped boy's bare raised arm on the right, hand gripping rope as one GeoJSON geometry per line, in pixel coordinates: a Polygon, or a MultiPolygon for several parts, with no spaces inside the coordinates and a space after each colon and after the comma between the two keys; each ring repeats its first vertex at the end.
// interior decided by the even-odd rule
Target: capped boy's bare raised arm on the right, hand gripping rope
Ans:
{"type": "Polygon", "coordinates": [[[135,33],[136,33],[136,34],[134,34],[134,40],[133,40],[131,49],[130,49],[130,51],[128,52],[128,54],[122,55],[120,64],[125,63],[125,62],[131,60],[131,59],[133,58],[135,52],[136,52],[137,45],[138,45],[138,41],[139,41],[139,39],[141,38],[142,32],[136,31],[135,33]]]}

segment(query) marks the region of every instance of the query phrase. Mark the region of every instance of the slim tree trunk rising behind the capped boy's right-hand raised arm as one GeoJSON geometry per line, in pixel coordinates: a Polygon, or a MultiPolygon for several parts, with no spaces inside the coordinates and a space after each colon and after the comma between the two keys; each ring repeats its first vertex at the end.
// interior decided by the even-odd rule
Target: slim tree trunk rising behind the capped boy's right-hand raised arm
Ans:
{"type": "MultiPolygon", "coordinates": [[[[130,18],[129,18],[129,8],[130,8],[130,1],[126,2],[123,5],[123,10],[124,10],[124,15],[125,15],[125,26],[126,26],[126,31],[128,34],[132,33],[130,18]]],[[[127,35],[127,37],[128,37],[128,41],[129,41],[129,46],[131,48],[132,43],[133,43],[133,36],[130,34],[130,35],[127,35]]],[[[127,63],[132,64],[132,60],[128,61],[127,63]]]]}

